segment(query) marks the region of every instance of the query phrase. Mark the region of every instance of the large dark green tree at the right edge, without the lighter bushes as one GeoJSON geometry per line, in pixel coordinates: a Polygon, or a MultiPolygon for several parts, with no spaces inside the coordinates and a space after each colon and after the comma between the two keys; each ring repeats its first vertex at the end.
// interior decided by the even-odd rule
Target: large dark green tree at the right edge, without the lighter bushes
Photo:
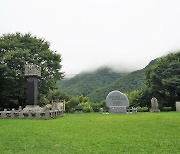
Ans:
{"type": "Polygon", "coordinates": [[[147,86],[162,106],[174,107],[180,100],[180,52],[160,58],[147,73],[147,86]]]}

